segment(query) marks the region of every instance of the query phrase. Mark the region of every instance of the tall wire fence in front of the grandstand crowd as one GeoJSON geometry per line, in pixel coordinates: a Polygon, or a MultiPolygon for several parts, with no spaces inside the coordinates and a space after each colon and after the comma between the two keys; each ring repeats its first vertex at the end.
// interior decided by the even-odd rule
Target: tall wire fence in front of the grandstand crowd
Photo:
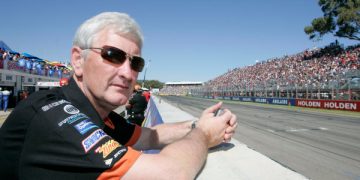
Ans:
{"type": "Polygon", "coordinates": [[[321,83],[292,81],[255,81],[251,85],[214,86],[204,85],[189,91],[192,96],[217,97],[265,97],[324,100],[360,100],[360,70],[349,71],[344,76],[321,83]]]}

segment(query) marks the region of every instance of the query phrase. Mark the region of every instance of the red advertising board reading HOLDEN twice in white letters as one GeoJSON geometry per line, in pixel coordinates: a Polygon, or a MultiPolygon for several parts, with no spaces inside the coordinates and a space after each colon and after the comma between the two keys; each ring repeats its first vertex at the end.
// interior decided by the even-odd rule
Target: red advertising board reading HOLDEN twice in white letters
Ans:
{"type": "Polygon", "coordinates": [[[360,111],[360,101],[296,99],[295,104],[299,107],[360,111]]]}

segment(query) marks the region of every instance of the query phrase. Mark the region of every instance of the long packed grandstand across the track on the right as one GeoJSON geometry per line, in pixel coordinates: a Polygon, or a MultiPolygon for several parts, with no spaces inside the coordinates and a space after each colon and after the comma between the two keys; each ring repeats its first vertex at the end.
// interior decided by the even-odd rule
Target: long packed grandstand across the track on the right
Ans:
{"type": "Polygon", "coordinates": [[[203,85],[169,84],[165,90],[164,94],[201,97],[360,100],[360,44],[343,48],[332,43],[238,67],[203,85]]]}

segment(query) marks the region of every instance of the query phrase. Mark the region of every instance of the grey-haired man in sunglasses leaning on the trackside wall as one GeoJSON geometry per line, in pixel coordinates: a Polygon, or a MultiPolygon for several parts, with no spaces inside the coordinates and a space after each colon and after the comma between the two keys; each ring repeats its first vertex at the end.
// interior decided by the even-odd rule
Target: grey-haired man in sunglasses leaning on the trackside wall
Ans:
{"type": "Polygon", "coordinates": [[[142,35],[126,14],[101,13],[77,30],[67,86],[33,93],[0,129],[2,179],[194,179],[209,147],[229,141],[229,110],[151,129],[112,110],[125,105],[144,67],[142,35]],[[193,126],[191,126],[193,125],[193,126]],[[193,128],[191,128],[193,127],[193,128]],[[158,154],[140,150],[161,149],[158,154]]]}

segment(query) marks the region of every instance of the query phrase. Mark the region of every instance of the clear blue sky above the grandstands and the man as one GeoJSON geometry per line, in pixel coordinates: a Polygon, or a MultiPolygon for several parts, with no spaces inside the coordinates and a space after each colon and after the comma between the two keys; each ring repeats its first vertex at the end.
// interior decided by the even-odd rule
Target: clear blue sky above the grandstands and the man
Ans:
{"type": "Polygon", "coordinates": [[[205,82],[256,60],[335,41],[313,42],[303,31],[322,15],[316,0],[7,0],[1,7],[0,40],[51,61],[69,61],[84,20],[104,11],[128,13],[145,37],[146,79],[161,82],[205,82]]]}

